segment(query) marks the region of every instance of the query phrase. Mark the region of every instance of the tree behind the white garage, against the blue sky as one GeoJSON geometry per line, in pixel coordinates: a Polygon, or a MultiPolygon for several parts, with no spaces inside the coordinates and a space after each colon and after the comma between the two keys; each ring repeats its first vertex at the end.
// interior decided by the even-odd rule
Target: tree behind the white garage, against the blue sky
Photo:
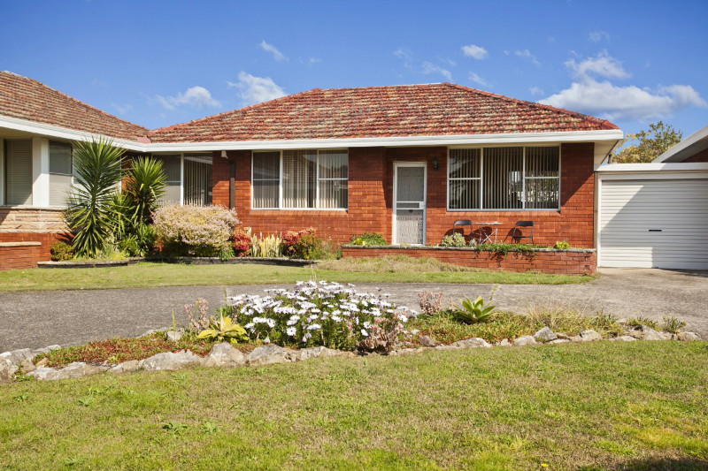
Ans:
{"type": "Polygon", "coordinates": [[[632,144],[615,152],[612,163],[651,162],[681,142],[682,137],[683,133],[673,129],[672,125],[665,125],[663,121],[652,123],[648,130],[627,134],[627,140],[632,144]]]}

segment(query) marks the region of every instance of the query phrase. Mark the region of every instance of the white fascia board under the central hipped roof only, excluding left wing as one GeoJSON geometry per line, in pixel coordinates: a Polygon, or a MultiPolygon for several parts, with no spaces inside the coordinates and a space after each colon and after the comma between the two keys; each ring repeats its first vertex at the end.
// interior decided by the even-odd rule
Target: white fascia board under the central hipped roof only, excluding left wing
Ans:
{"type": "Polygon", "coordinates": [[[282,141],[165,142],[146,144],[150,152],[212,150],[280,150],[297,148],[369,148],[475,146],[488,144],[558,144],[561,142],[617,141],[620,130],[571,131],[564,133],[507,133],[451,136],[406,136],[354,139],[297,139],[282,141]]]}

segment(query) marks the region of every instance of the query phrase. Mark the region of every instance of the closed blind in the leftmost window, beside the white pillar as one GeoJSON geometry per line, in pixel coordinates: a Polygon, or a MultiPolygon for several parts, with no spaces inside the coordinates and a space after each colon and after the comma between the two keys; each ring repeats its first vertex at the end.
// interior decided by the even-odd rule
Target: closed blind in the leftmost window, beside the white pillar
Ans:
{"type": "Polygon", "coordinates": [[[5,204],[32,204],[32,140],[5,140],[5,204]]]}

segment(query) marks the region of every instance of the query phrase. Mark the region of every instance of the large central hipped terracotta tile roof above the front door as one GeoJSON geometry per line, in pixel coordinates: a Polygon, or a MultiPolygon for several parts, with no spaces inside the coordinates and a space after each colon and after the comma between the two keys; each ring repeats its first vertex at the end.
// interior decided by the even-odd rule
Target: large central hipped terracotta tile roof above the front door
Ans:
{"type": "Polygon", "coordinates": [[[269,141],[617,129],[608,121],[450,83],[313,90],[172,125],[152,142],[269,141]]]}

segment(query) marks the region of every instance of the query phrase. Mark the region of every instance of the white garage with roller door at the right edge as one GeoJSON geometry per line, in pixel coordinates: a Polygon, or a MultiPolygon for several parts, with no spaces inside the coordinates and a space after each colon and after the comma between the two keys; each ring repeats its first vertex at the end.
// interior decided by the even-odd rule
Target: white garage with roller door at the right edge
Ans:
{"type": "Polygon", "coordinates": [[[708,270],[708,126],[597,175],[599,266],[708,270]]]}

